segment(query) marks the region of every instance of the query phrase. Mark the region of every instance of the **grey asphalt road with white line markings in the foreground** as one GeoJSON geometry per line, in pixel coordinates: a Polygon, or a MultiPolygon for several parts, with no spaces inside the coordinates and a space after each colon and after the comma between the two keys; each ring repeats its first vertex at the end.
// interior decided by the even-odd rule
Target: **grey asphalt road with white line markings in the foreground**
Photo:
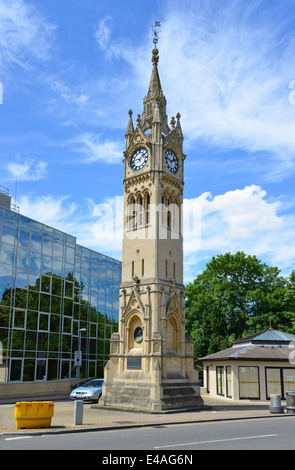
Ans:
{"type": "MultiPolygon", "coordinates": [[[[193,450],[295,450],[295,416],[154,426],[100,432],[1,436],[1,450],[148,450],[188,455],[193,450]]],[[[127,452],[127,454],[126,454],[127,452]]],[[[142,456],[145,453],[141,454],[142,456]]],[[[142,457],[143,458],[143,457],[142,457]]],[[[142,465],[142,462],[141,462],[142,465]]],[[[134,466],[134,465],[133,465],[134,466]]]]}

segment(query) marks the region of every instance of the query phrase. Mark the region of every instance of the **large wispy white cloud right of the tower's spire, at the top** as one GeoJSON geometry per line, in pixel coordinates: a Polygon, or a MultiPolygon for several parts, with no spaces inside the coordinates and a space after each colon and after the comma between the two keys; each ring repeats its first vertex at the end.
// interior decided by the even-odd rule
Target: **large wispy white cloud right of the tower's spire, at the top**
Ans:
{"type": "MultiPolygon", "coordinates": [[[[288,89],[295,35],[292,15],[280,17],[283,6],[259,6],[174,2],[162,22],[159,71],[169,113],[182,115],[187,147],[202,138],[219,149],[264,152],[265,173],[280,179],[295,171],[288,89]]],[[[146,81],[146,58],[134,65],[146,81]]]]}

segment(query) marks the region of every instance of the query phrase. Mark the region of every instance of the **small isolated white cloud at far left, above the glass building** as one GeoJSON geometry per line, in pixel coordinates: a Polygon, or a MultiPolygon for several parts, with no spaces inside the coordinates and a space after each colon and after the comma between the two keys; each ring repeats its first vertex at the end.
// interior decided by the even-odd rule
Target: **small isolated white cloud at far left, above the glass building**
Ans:
{"type": "Polygon", "coordinates": [[[20,156],[17,156],[15,162],[8,163],[7,169],[13,179],[18,181],[36,181],[47,177],[46,162],[35,162],[29,158],[20,161],[20,156]]]}

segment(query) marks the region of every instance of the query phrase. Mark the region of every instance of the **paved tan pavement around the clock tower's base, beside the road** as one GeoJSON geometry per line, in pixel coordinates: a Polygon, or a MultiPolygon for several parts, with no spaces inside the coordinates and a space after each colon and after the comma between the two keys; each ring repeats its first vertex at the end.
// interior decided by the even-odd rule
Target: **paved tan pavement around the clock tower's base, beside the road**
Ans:
{"type": "Polygon", "coordinates": [[[46,397],[39,399],[21,399],[16,401],[53,401],[54,416],[48,428],[16,429],[14,418],[15,402],[0,401],[0,436],[23,434],[48,434],[81,431],[104,431],[130,427],[163,426],[181,423],[200,423],[221,420],[258,419],[267,417],[294,416],[287,412],[285,402],[283,413],[271,413],[270,402],[233,402],[218,397],[202,395],[205,408],[195,411],[172,412],[167,414],[148,414],[132,411],[116,411],[99,408],[97,405],[83,405],[83,424],[74,424],[74,402],[64,398],[46,397]]]}

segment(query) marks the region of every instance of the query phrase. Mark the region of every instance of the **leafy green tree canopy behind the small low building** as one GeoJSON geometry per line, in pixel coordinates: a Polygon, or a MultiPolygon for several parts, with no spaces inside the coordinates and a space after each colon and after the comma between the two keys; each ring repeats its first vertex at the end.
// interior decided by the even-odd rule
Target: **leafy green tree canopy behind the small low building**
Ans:
{"type": "Polygon", "coordinates": [[[186,329],[195,358],[271,327],[295,334],[295,270],[289,278],[243,252],[213,257],[186,286],[186,329]]]}

